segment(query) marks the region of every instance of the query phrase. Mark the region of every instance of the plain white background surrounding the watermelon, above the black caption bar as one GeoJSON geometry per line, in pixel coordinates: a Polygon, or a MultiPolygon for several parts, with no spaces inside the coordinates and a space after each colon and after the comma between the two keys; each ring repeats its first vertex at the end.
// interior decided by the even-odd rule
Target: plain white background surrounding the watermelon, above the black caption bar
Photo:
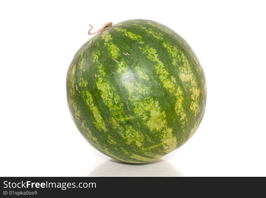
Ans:
{"type": "Polygon", "coordinates": [[[0,176],[266,176],[264,1],[1,1],[0,176]],[[196,52],[207,80],[195,135],[153,164],[117,163],[66,103],[76,51],[105,22],[150,19],[196,52]]]}

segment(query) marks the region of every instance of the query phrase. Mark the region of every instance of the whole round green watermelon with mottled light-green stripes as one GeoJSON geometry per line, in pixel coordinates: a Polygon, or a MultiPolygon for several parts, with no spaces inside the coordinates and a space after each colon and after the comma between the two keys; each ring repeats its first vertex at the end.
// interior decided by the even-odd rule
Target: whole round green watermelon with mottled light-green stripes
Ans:
{"type": "Polygon", "coordinates": [[[183,145],[206,106],[206,80],[187,42],[149,20],[105,28],[74,56],[66,77],[76,127],[103,154],[154,161],[183,145]]]}

